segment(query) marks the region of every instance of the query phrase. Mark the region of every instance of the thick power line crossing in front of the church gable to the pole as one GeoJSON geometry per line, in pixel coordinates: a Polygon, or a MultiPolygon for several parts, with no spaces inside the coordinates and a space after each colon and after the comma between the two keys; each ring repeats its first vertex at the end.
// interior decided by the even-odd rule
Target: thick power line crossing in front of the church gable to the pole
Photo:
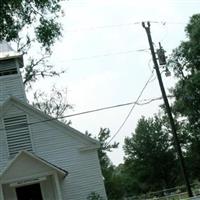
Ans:
{"type": "MultiPolygon", "coordinates": [[[[173,96],[168,96],[168,97],[173,97],[173,96]]],[[[153,101],[158,101],[158,100],[161,100],[161,99],[162,99],[162,97],[156,97],[156,98],[152,98],[152,99],[143,99],[143,100],[141,100],[142,101],[141,103],[139,103],[139,101],[122,103],[122,104],[117,104],[117,105],[113,105],[113,106],[107,106],[107,107],[97,108],[97,109],[93,109],[93,110],[78,112],[78,113],[74,113],[74,114],[70,114],[70,115],[65,115],[65,116],[61,116],[61,117],[52,117],[50,119],[40,120],[40,121],[36,121],[36,122],[32,122],[32,123],[23,123],[23,124],[16,125],[15,128],[16,127],[17,128],[22,128],[24,126],[29,126],[29,125],[34,125],[34,124],[40,124],[40,123],[46,123],[46,122],[50,122],[50,121],[55,121],[55,120],[59,120],[59,119],[80,116],[80,115],[84,115],[84,114],[90,114],[90,113],[99,112],[99,111],[103,111],[103,110],[110,110],[110,109],[113,109],[113,108],[119,108],[119,107],[129,106],[129,105],[132,105],[132,104],[143,106],[143,105],[152,103],[153,101]]],[[[6,130],[6,129],[5,128],[0,128],[0,131],[3,131],[3,130],[6,130]]]]}

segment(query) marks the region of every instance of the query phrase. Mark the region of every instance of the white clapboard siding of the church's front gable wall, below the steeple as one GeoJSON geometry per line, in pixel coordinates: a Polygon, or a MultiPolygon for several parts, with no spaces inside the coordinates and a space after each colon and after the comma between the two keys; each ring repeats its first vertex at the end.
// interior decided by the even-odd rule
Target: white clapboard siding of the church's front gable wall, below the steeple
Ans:
{"type": "MultiPolygon", "coordinates": [[[[19,108],[10,107],[6,116],[17,115],[19,112],[22,112],[19,108]]],[[[30,123],[42,120],[41,116],[31,111],[26,114],[30,123]]],[[[90,145],[89,141],[71,136],[67,130],[53,122],[33,124],[30,132],[34,153],[69,172],[61,180],[64,200],[86,200],[91,192],[97,192],[106,199],[97,151],[79,150],[80,147],[90,145]]]]}

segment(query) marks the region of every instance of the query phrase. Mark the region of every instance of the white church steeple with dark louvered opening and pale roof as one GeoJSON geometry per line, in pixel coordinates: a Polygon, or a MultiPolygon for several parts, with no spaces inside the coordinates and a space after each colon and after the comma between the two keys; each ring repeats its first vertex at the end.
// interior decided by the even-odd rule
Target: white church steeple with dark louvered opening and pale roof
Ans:
{"type": "Polygon", "coordinates": [[[10,45],[0,42],[0,103],[10,96],[27,101],[20,73],[23,57],[15,52],[10,45]]]}

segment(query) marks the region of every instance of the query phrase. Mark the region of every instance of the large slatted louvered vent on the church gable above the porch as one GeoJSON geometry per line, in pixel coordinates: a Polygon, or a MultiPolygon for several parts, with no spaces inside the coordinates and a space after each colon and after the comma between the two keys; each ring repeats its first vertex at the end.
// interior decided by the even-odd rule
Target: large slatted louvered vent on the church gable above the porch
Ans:
{"type": "Polygon", "coordinates": [[[20,150],[32,151],[26,115],[4,119],[10,156],[20,150]]]}

